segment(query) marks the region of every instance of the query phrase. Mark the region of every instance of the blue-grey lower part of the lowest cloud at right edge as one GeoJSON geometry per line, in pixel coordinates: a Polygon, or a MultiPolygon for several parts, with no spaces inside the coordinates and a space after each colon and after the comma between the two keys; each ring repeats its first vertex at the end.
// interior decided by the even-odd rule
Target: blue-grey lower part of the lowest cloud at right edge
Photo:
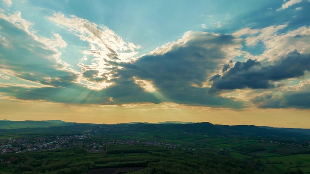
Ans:
{"type": "Polygon", "coordinates": [[[310,92],[284,91],[282,95],[267,94],[251,100],[260,108],[310,108],[310,92]]]}

